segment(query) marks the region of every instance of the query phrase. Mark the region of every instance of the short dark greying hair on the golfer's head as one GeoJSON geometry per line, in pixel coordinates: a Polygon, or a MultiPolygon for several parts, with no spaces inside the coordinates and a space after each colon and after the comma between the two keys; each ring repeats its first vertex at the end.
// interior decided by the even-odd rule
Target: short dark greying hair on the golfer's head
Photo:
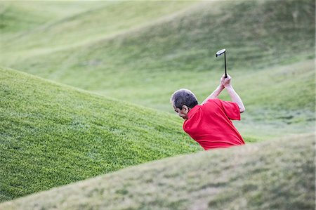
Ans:
{"type": "Polygon", "coordinates": [[[174,92],[170,98],[170,102],[180,110],[183,105],[190,107],[191,109],[197,105],[197,97],[190,90],[180,89],[174,92]]]}

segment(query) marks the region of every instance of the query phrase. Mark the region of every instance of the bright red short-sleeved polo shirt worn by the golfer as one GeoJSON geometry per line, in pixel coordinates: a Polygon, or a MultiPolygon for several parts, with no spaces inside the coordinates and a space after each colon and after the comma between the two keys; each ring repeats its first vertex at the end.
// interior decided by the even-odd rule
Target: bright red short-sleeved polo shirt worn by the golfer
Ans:
{"type": "Polygon", "coordinates": [[[196,105],[183,123],[183,130],[199,143],[204,150],[217,147],[244,145],[244,140],[231,120],[240,120],[237,103],[218,98],[196,105]]]}

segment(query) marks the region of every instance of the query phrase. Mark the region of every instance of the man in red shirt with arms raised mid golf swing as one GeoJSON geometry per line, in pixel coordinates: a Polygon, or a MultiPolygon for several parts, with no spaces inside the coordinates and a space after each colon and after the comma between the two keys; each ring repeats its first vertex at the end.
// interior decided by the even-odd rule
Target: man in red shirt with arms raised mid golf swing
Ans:
{"type": "Polygon", "coordinates": [[[198,105],[195,94],[187,89],[180,89],[171,96],[174,110],[179,117],[185,119],[183,130],[204,150],[244,145],[244,140],[232,120],[240,120],[240,113],[245,108],[230,81],[229,75],[227,78],[223,75],[218,88],[201,105],[198,105]],[[224,88],[232,102],[217,98],[224,88]]]}

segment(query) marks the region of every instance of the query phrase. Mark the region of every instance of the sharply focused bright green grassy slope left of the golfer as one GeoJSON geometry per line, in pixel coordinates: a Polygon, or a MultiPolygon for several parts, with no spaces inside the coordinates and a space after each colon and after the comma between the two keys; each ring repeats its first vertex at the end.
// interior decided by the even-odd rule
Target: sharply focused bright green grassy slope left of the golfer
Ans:
{"type": "Polygon", "coordinates": [[[0,201],[202,150],[182,121],[0,68],[0,201]]]}

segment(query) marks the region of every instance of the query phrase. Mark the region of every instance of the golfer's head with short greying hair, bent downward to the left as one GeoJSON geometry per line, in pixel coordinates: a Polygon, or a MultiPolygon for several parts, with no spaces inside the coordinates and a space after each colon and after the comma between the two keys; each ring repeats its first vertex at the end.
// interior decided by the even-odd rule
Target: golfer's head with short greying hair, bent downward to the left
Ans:
{"type": "Polygon", "coordinates": [[[179,117],[187,119],[187,113],[197,105],[197,97],[190,90],[180,89],[172,94],[170,103],[179,117]]]}

